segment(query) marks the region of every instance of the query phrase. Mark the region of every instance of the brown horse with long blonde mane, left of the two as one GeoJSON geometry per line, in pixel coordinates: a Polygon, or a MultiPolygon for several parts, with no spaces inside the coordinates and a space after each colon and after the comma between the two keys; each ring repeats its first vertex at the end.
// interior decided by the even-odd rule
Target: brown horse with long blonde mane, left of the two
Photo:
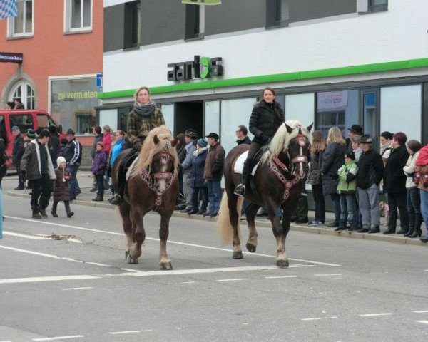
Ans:
{"type": "MultiPolygon", "coordinates": [[[[178,195],[178,157],[175,150],[177,140],[166,126],[154,128],[148,133],[141,147],[140,155],[126,181],[123,201],[119,206],[123,231],[126,234],[128,264],[138,264],[141,256],[141,244],[146,239],[143,217],[152,210],[161,215],[161,250],[159,265],[161,269],[172,269],[166,252],[169,234],[169,221],[178,195]]],[[[113,170],[113,187],[117,185],[120,160],[131,152],[124,150],[116,158],[113,170]]]]}

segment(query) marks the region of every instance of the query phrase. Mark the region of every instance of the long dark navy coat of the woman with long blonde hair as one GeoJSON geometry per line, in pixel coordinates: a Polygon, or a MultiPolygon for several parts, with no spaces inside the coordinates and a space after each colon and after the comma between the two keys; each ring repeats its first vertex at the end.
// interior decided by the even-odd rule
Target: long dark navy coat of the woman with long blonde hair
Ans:
{"type": "Polygon", "coordinates": [[[338,142],[330,142],[325,147],[324,155],[322,155],[322,193],[324,195],[337,194],[337,185],[339,180],[331,177],[336,174],[340,167],[345,162],[346,146],[338,142]]]}

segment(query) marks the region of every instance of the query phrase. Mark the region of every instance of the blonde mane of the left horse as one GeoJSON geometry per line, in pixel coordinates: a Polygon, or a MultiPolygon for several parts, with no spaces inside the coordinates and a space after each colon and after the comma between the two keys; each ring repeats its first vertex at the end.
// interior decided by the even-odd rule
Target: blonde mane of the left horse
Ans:
{"type": "Polygon", "coordinates": [[[161,150],[165,148],[166,150],[168,150],[169,155],[173,158],[174,175],[177,175],[178,155],[177,150],[175,150],[175,147],[173,147],[170,143],[171,140],[173,140],[173,135],[168,127],[162,125],[157,128],[153,128],[153,130],[148,133],[146,140],[144,140],[143,146],[141,146],[140,155],[138,155],[138,160],[136,162],[136,165],[134,165],[133,167],[130,177],[139,175],[141,170],[144,169],[150,172],[150,166],[153,161],[153,156],[156,155],[156,153],[161,152],[161,150]],[[159,140],[157,145],[153,141],[155,135],[158,136],[159,140]]]}

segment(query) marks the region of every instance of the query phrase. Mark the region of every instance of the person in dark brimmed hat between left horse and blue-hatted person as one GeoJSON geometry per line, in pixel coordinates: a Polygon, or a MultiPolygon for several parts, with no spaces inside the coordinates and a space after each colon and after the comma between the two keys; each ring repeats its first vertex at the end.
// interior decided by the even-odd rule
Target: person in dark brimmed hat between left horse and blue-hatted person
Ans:
{"type": "Polygon", "coordinates": [[[183,170],[183,192],[185,197],[185,209],[181,212],[191,212],[192,206],[192,193],[193,189],[190,187],[190,172],[192,171],[192,160],[193,152],[196,150],[196,140],[198,139],[198,133],[193,128],[189,128],[184,133],[185,140],[185,160],[181,164],[183,170]]]}

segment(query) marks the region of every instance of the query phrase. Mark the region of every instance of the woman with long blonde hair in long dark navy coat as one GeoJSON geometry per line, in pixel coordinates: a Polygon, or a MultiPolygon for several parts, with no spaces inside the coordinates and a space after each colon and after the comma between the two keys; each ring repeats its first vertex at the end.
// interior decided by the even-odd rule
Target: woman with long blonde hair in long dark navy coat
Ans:
{"type": "Polygon", "coordinates": [[[327,147],[322,156],[322,193],[324,196],[330,195],[335,206],[335,221],[327,227],[339,227],[340,222],[340,195],[337,194],[337,171],[345,163],[346,141],[342,131],[338,127],[328,130],[327,147]]]}

